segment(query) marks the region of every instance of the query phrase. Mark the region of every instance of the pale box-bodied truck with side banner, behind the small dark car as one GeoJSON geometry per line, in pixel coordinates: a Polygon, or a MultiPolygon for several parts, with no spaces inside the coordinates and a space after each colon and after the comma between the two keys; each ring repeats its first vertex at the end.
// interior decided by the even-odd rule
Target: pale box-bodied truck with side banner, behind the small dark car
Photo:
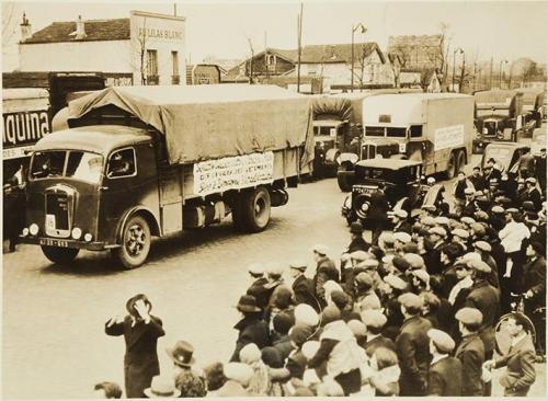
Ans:
{"type": "MultiPolygon", "coordinates": [[[[401,93],[366,98],[364,146],[368,158],[419,161],[423,174],[448,179],[470,160],[473,98],[458,93],[401,93]],[[392,149],[398,149],[392,152],[392,149]]],[[[340,172],[342,174],[342,172],[340,172]]],[[[354,183],[354,169],[344,172],[354,183]]]]}

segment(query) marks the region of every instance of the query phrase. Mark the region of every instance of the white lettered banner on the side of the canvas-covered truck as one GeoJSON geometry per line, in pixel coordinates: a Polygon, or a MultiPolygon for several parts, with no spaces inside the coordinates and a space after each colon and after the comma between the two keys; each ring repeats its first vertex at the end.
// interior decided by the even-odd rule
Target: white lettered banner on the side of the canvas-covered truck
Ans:
{"type": "Polygon", "coordinates": [[[274,153],[251,153],[194,163],[194,193],[209,195],[228,190],[270,184],[274,180],[274,153]]]}

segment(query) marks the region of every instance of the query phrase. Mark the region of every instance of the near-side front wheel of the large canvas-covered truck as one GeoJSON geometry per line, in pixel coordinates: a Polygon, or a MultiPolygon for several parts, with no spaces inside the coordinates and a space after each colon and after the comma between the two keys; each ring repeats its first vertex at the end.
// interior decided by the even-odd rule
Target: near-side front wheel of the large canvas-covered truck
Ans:
{"type": "Polygon", "coordinates": [[[140,266],[150,252],[150,227],[139,215],[132,216],[122,230],[121,247],[112,251],[124,268],[140,266]]]}

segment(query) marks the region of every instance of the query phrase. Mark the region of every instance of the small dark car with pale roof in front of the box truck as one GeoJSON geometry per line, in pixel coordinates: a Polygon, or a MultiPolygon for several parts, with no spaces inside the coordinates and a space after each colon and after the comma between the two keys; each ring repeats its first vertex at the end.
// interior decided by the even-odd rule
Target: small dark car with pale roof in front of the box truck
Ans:
{"type": "Polygon", "coordinates": [[[367,228],[370,196],[379,184],[385,185],[385,194],[392,209],[397,204],[410,213],[421,202],[423,194],[422,163],[401,159],[368,159],[355,165],[355,182],[352,192],[344,199],[342,215],[349,224],[359,220],[367,228]],[[407,198],[406,202],[401,202],[407,198]]]}

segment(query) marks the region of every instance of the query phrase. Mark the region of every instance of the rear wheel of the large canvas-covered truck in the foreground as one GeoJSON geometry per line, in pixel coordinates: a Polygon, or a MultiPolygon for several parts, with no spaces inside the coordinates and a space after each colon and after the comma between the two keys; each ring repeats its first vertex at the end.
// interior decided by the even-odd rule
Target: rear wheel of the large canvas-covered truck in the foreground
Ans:
{"type": "Polygon", "coordinates": [[[241,218],[243,229],[260,232],[269,226],[271,219],[271,195],[264,186],[243,194],[241,198],[241,218]]]}

